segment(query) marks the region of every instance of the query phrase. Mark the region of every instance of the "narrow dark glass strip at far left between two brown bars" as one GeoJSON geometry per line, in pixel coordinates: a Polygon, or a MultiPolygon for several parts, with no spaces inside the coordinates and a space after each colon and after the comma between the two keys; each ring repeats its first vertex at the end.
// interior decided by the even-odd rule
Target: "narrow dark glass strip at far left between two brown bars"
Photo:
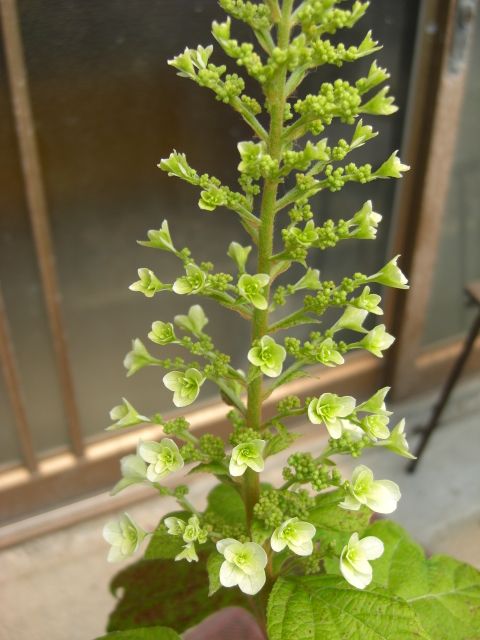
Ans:
{"type": "MultiPolygon", "coordinates": [[[[34,446],[42,452],[67,439],[9,105],[0,49],[0,280],[34,446]]],[[[5,416],[1,411],[1,437],[10,437],[5,416]]],[[[0,451],[8,459],[13,449],[0,442],[0,451]]]]}

